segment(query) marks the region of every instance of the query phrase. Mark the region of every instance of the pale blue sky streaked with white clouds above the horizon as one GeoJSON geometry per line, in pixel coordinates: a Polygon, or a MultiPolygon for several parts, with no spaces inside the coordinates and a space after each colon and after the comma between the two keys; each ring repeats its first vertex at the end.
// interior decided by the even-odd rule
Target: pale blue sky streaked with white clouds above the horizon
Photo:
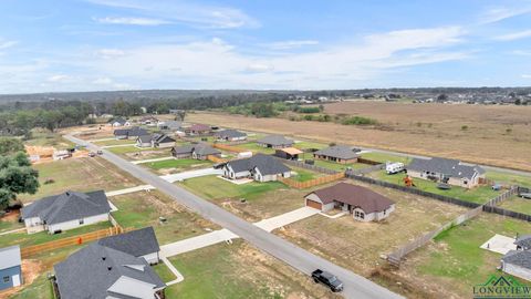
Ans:
{"type": "Polygon", "coordinates": [[[531,0],[1,0],[0,93],[530,86],[531,0]]]}

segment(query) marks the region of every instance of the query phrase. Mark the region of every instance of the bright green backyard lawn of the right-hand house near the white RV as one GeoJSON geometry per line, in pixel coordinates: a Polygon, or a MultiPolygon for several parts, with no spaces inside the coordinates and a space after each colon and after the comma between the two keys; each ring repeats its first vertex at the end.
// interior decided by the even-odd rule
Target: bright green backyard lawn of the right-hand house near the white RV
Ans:
{"type": "MultiPolygon", "coordinates": [[[[379,172],[373,173],[372,176],[377,179],[382,179],[393,184],[404,185],[404,181],[403,181],[403,178],[405,177],[404,174],[388,175],[385,173],[385,171],[379,171],[379,172]]],[[[485,204],[488,200],[496,197],[497,195],[501,194],[501,192],[492,190],[490,186],[479,186],[471,189],[466,189],[458,186],[451,186],[451,189],[442,190],[437,188],[437,183],[434,183],[431,181],[414,178],[414,183],[416,185],[415,188],[417,189],[440,194],[440,195],[446,195],[446,196],[459,198],[466,202],[478,203],[478,204],[485,204]]]]}

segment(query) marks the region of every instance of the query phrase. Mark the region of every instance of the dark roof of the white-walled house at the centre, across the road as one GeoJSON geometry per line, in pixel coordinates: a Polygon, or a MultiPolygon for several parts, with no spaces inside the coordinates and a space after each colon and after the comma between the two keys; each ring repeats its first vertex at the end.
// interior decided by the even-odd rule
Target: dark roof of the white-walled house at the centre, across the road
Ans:
{"type": "Polygon", "coordinates": [[[250,172],[254,168],[262,175],[273,175],[291,172],[290,167],[285,166],[279,159],[264,154],[256,154],[252,157],[233,159],[227,163],[235,173],[250,172]]]}

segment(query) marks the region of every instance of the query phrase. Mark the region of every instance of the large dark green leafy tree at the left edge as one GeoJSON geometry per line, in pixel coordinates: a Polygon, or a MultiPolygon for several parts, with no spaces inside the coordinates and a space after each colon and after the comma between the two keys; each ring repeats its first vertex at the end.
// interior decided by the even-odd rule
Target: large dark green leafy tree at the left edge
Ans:
{"type": "Polygon", "coordinates": [[[0,156],[0,209],[6,209],[18,194],[35,194],[39,173],[23,152],[0,156]]]}

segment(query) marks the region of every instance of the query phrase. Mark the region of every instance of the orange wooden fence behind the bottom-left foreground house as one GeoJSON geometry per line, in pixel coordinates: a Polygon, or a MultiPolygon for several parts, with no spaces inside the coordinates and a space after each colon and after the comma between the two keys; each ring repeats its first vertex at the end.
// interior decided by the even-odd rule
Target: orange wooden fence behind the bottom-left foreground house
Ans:
{"type": "Polygon", "coordinates": [[[119,235],[129,230],[132,229],[131,228],[124,229],[119,226],[113,226],[106,229],[91,231],[91,233],[72,236],[72,237],[67,237],[59,240],[22,247],[20,251],[21,251],[22,258],[28,258],[43,251],[55,250],[59,248],[64,248],[64,247],[74,246],[74,245],[82,245],[87,241],[98,240],[101,238],[119,235]]]}

